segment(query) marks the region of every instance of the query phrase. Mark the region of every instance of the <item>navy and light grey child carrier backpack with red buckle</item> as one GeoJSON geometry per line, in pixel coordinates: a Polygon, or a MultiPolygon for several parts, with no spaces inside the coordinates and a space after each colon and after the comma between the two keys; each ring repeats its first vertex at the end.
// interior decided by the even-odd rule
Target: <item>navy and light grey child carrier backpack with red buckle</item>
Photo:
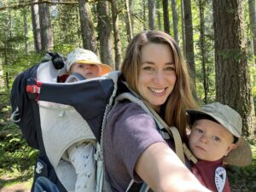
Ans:
{"type": "MultiPolygon", "coordinates": [[[[39,150],[32,191],[35,183],[45,183],[45,178],[54,185],[50,191],[74,191],[76,175],[73,166],[61,157],[68,145],[83,140],[96,143],[96,192],[112,191],[104,173],[101,139],[113,103],[124,99],[137,102],[150,114],[162,137],[174,138],[176,153],[184,162],[183,145],[177,129],[168,127],[153,109],[132,93],[119,80],[119,72],[61,84],[57,83],[63,73],[61,65],[55,66],[50,59],[27,69],[17,76],[11,91],[11,119],[20,126],[27,143],[39,150]],[[73,128],[80,134],[73,134],[73,128]]],[[[148,187],[131,181],[126,191],[148,191],[148,187]]]]}

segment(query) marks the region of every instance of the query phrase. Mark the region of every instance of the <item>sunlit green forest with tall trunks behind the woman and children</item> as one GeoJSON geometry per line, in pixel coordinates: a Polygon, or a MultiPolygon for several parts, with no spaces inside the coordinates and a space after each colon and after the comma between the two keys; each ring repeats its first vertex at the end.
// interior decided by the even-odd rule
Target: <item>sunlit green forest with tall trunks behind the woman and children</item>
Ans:
{"type": "Polygon", "coordinates": [[[0,190],[24,181],[29,188],[38,154],[9,121],[17,74],[46,51],[67,55],[77,47],[118,69],[131,38],[157,29],[183,50],[199,102],[222,102],[241,114],[253,164],[228,172],[233,191],[255,191],[255,9],[255,0],[0,0],[0,190]]]}

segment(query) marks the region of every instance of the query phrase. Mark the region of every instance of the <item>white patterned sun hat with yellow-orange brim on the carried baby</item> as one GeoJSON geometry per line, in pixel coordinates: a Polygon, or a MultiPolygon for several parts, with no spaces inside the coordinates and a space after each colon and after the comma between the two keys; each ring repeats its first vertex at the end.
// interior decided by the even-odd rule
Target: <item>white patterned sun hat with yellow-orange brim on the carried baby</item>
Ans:
{"type": "Polygon", "coordinates": [[[95,64],[101,67],[102,71],[100,75],[106,74],[112,71],[112,68],[107,64],[103,64],[98,56],[88,49],[77,48],[67,55],[66,69],[69,72],[73,63],[95,64]]]}

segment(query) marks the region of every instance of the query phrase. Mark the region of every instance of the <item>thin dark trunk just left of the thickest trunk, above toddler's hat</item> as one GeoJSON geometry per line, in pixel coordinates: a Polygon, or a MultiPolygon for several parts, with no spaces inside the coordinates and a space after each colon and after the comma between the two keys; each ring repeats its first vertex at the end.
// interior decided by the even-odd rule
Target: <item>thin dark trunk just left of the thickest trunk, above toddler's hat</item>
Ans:
{"type": "Polygon", "coordinates": [[[205,44],[205,0],[199,0],[199,13],[200,13],[200,50],[201,50],[201,71],[202,71],[202,82],[204,87],[205,97],[204,103],[208,101],[208,74],[207,74],[207,62],[206,62],[206,44],[205,44]]]}

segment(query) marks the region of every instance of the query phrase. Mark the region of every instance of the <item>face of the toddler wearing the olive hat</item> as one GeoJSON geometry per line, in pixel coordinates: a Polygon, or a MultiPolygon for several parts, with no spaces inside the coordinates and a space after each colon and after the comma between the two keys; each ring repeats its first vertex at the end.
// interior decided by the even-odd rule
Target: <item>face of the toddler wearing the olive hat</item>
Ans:
{"type": "Polygon", "coordinates": [[[236,148],[234,137],[223,125],[212,120],[196,120],[189,136],[189,148],[200,160],[219,160],[236,148]]]}

